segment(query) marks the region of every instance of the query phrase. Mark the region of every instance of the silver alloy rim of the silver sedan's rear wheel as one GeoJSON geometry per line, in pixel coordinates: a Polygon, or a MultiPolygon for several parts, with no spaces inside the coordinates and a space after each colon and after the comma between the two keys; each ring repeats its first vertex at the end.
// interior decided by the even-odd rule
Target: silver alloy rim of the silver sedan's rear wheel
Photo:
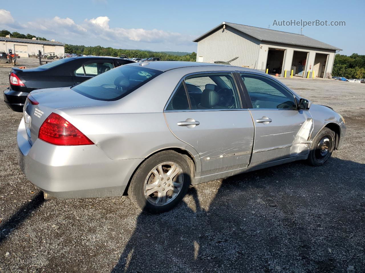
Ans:
{"type": "Polygon", "coordinates": [[[147,175],[144,193],[148,202],[162,206],[171,202],[180,193],[184,175],[174,162],[162,162],[147,175]]]}

